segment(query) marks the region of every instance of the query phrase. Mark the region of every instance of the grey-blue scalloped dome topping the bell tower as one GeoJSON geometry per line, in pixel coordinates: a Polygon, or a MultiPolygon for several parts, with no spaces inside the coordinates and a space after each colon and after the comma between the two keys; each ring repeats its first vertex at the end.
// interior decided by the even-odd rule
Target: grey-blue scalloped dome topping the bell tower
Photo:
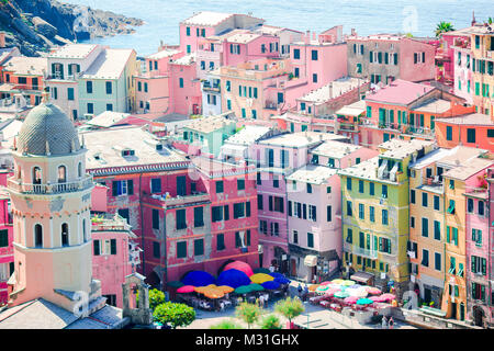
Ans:
{"type": "Polygon", "coordinates": [[[66,155],[79,150],[80,143],[69,117],[58,106],[42,103],[26,115],[16,149],[32,155],[66,155]]]}

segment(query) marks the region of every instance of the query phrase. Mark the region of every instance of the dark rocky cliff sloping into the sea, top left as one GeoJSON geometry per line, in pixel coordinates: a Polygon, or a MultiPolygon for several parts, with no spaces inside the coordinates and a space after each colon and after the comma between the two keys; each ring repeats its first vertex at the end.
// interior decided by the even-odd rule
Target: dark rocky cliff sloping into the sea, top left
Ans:
{"type": "Polygon", "coordinates": [[[0,0],[0,31],[7,45],[40,56],[55,45],[93,37],[130,34],[143,21],[55,0],[0,0]]]}

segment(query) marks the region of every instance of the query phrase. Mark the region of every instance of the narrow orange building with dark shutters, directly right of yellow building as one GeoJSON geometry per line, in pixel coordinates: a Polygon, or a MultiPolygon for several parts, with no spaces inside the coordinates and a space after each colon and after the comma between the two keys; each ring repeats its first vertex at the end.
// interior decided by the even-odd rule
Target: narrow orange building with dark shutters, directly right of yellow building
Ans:
{"type": "Polygon", "coordinates": [[[445,288],[446,212],[444,173],[459,167],[462,160],[486,151],[458,146],[438,148],[411,163],[409,169],[409,242],[411,286],[427,306],[441,307],[445,288]],[[461,160],[461,161],[460,161],[461,160]]]}

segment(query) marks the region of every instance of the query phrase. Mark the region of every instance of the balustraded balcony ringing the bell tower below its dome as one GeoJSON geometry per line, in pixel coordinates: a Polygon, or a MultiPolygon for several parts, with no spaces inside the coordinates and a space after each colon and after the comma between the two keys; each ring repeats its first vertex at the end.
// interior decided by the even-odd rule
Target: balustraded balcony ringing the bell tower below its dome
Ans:
{"type": "Polygon", "coordinates": [[[30,184],[22,183],[14,178],[8,180],[8,188],[24,194],[52,195],[69,192],[83,191],[93,185],[92,176],[86,174],[82,180],[75,182],[54,183],[54,184],[30,184]]]}

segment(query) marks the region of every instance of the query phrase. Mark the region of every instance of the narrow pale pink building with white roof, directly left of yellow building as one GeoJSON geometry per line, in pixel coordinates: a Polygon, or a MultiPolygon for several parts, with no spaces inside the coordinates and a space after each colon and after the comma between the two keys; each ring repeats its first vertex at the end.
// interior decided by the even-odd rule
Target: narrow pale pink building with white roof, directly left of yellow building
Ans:
{"type": "Polygon", "coordinates": [[[324,141],[310,163],[287,177],[290,274],[307,282],[339,273],[343,259],[341,194],[338,169],[379,152],[341,141],[324,141]]]}

